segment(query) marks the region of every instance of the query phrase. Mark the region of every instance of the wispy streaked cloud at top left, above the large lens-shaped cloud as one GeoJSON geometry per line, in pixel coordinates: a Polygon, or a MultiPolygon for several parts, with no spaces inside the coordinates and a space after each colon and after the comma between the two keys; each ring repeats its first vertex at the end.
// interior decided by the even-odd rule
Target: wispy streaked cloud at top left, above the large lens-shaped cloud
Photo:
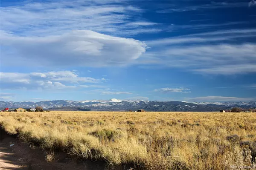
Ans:
{"type": "Polygon", "coordinates": [[[134,26],[154,25],[140,17],[142,12],[114,0],[23,2],[1,7],[1,29],[26,36],[61,35],[73,29],[121,35],[134,26]]]}

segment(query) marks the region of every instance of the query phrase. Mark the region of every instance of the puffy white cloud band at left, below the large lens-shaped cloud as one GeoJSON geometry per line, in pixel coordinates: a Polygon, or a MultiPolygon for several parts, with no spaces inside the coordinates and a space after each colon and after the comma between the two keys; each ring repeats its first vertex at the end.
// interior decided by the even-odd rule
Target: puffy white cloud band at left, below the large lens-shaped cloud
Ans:
{"type": "MultiPolygon", "coordinates": [[[[101,82],[101,80],[95,78],[80,77],[71,71],[32,73],[0,72],[0,81],[1,89],[74,89],[78,86],[87,86],[79,85],[80,83],[95,84],[101,82]]],[[[93,85],[88,86],[93,87],[93,85]]]]}

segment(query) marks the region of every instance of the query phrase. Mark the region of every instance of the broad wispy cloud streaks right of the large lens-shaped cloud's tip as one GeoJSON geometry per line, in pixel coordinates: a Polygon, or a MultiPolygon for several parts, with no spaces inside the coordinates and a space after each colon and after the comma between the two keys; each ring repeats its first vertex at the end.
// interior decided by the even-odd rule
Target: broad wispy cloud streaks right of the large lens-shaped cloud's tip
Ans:
{"type": "Polygon", "coordinates": [[[256,29],[222,30],[146,42],[141,63],[161,64],[200,74],[233,75],[256,72],[256,29]],[[239,43],[236,42],[239,38],[239,43]]]}

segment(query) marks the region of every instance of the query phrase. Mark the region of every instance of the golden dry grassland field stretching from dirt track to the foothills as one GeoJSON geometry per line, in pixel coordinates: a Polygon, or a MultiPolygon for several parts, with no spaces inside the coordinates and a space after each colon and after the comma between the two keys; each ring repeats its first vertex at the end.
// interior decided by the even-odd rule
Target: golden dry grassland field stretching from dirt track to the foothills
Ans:
{"type": "Polygon", "coordinates": [[[2,112],[0,124],[49,150],[49,161],[62,150],[110,167],[136,164],[147,170],[255,164],[256,113],[2,112]]]}

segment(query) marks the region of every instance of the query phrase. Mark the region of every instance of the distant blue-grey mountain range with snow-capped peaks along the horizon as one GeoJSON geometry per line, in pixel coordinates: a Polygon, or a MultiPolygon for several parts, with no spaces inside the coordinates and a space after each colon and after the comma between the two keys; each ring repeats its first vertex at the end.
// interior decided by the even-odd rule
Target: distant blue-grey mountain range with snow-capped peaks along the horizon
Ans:
{"type": "Polygon", "coordinates": [[[239,107],[242,110],[256,109],[256,101],[245,102],[186,102],[186,101],[143,101],[143,100],[87,100],[87,101],[0,101],[0,109],[3,108],[35,108],[42,107],[44,110],[67,110],[67,111],[129,111],[144,109],[147,111],[185,111],[185,112],[214,112],[229,110],[239,107]]]}

